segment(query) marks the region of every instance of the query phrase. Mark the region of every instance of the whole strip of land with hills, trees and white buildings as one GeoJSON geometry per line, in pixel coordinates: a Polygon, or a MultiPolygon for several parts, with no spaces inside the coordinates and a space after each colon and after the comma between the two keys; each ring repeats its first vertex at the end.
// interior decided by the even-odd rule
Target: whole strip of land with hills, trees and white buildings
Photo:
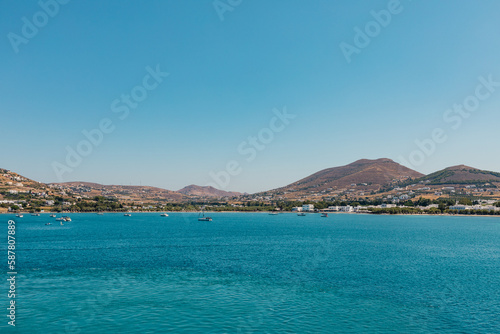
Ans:
{"type": "Polygon", "coordinates": [[[171,191],[89,182],[44,184],[0,169],[0,212],[4,213],[194,211],[201,206],[216,211],[496,212],[499,202],[500,173],[460,165],[423,175],[389,159],[359,160],[256,194],[195,185],[171,191]]]}

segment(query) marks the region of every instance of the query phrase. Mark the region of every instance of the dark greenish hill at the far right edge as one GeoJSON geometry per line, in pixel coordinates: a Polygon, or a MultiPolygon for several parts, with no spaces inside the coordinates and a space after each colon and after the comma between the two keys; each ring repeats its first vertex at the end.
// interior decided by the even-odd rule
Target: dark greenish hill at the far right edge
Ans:
{"type": "Polygon", "coordinates": [[[500,173],[485,171],[465,165],[448,167],[420,178],[430,185],[484,184],[500,182],[500,173]]]}

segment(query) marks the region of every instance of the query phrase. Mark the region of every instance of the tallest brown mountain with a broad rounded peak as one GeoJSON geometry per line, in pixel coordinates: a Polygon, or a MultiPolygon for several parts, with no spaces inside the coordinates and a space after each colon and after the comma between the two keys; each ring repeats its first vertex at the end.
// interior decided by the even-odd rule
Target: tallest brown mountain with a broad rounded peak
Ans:
{"type": "Polygon", "coordinates": [[[322,191],[354,186],[358,186],[358,189],[377,190],[397,181],[423,176],[424,174],[390,159],[362,159],[346,166],[324,169],[279,190],[322,191]]]}

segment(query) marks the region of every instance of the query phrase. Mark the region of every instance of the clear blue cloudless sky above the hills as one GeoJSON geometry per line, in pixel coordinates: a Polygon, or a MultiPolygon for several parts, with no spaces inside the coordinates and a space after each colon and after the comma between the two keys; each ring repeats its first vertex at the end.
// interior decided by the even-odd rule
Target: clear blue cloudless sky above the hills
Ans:
{"type": "Polygon", "coordinates": [[[480,76],[500,82],[500,2],[401,0],[348,62],[341,43],[356,47],[354,29],[377,29],[370,12],[389,3],[243,0],[218,13],[211,0],[74,0],[52,17],[3,0],[0,167],[58,181],[54,162],[107,118],[114,131],[63,181],[177,190],[237,161],[226,189],[256,192],[361,158],[409,161],[435,128],[447,140],[410,167],[500,171],[500,87],[459,126],[443,119],[480,76]],[[120,119],[113,101],[125,106],[157,64],[169,75],[120,119]],[[283,107],[296,117],[247,161],[238,146],[283,107]]]}

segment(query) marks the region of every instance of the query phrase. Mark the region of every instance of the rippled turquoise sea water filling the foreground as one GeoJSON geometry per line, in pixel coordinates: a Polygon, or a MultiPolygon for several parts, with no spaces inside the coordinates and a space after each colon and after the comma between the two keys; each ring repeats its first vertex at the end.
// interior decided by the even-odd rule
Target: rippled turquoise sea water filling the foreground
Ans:
{"type": "Polygon", "coordinates": [[[1,215],[0,332],[500,333],[497,217],[211,216],[1,215]]]}

